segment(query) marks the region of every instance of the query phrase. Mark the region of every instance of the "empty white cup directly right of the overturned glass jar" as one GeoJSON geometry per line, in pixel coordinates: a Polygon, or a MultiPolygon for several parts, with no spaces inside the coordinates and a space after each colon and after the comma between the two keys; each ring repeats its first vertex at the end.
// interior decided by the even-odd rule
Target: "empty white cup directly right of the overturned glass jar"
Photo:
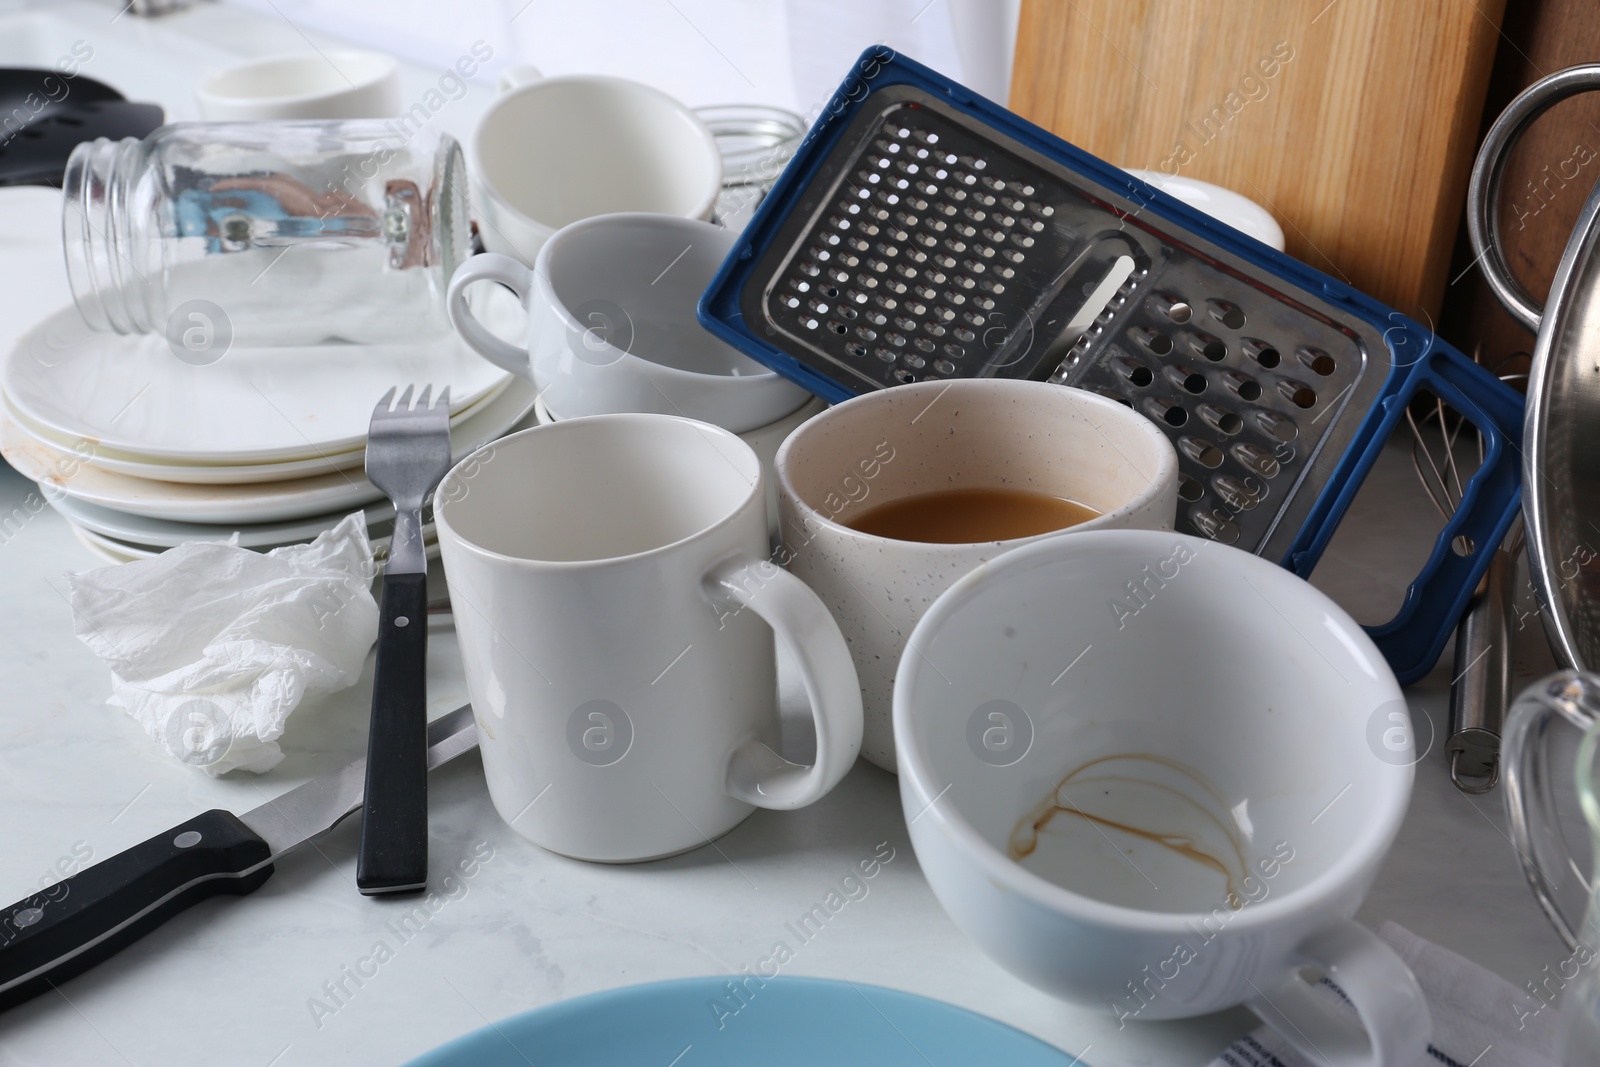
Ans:
{"type": "Polygon", "coordinates": [[[531,264],[570,222],[614,211],[709,219],[722,192],[717,139],[693,110],[640,82],[501,74],[467,142],[483,246],[531,264]]]}

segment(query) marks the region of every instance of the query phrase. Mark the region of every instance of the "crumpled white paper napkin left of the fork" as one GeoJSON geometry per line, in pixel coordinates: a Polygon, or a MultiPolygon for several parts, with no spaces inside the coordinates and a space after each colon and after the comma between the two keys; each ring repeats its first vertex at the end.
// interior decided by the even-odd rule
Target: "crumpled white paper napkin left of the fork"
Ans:
{"type": "Polygon", "coordinates": [[[357,681],[378,640],[373,547],[355,512],[261,553],[189,542],[67,574],[72,629],[110,667],[107,704],[206,774],[262,773],[299,702],[357,681]]]}

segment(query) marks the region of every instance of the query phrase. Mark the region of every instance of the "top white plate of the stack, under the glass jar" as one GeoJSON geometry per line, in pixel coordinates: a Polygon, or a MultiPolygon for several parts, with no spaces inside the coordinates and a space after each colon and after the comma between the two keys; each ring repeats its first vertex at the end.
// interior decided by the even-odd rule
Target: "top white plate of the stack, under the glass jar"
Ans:
{"type": "Polygon", "coordinates": [[[373,405],[395,384],[450,386],[451,411],[462,411],[506,378],[454,334],[235,349],[194,366],[165,338],[94,333],[64,307],[11,349],[0,390],[58,440],[83,438],[123,459],[237,466],[362,448],[373,405]]]}

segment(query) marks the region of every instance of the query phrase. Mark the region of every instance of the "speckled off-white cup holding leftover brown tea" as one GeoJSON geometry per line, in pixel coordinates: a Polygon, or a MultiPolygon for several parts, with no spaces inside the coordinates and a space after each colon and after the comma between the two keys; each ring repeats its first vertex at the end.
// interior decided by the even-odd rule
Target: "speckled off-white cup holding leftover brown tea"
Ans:
{"type": "Polygon", "coordinates": [[[838,619],[861,677],[861,753],[894,769],[894,669],[922,613],[1006,549],[1061,531],[987,541],[894,541],[846,523],[939,490],[1014,488],[1101,512],[1067,533],[1171,530],[1178,454],[1141,414],[1096,394],[995,378],[915,382],[846,400],[778,450],[782,561],[838,619]]]}

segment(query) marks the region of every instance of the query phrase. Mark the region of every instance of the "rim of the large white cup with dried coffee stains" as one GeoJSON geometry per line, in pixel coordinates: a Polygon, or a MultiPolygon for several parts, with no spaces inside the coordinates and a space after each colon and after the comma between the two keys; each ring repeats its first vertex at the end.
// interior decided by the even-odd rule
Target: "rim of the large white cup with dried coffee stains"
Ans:
{"type": "MultiPolygon", "coordinates": [[[[1378,646],[1373,645],[1370,637],[1366,637],[1366,632],[1354,619],[1350,619],[1342,608],[1333,603],[1333,600],[1330,600],[1322,590],[1312,587],[1309,582],[1304,582],[1304,579],[1299,579],[1290,571],[1285,571],[1283,568],[1259,557],[1250,555],[1242,549],[1232,549],[1229,545],[1205,541],[1202,537],[1192,537],[1189,534],[1152,530],[1096,530],[1072,533],[1027,544],[1019,549],[1011,549],[989,563],[981,563],[976,569],[958,579],[955,585],[934,600],[926,614],[923,614],[922,621],[917,622],[907,645],[920,645],[926,648],[931,643],[930,638],[933,633],[938,632],[938,629],[942,627],[950,616],[962,611],[966,603],[978,595],[982,585],[989,585],[1000,579],[1014,579],[1018,574],[1027,574],[1029,571],[1043,569],[1059,563],[1064,557],[1094,553],[1101,549],[1101,545],[1120,547],[1136,544],[1144,552],[1166,552],[1171,549],[1174,537],[1198,549],[1202,558],[1211,552],[1237,553],[1238,566],[1254,571],[1253,579],[1266,585],[1272,585],[1274,582],[1282,584],[1285,581],[1304,585],[1301,592],[1309,595],[1314,601],[1322,601],[1322,605],[1330,609],[1330,614],[1338,625],[1344,629],[1344,640],[1370,654],[1374,662],[1384,664],[1382,653],[1379,653],[1378,646]]],[[[1384,670],[1387,673],[1387,667],[1384,667],[1384,670]]],[[[928,773],[926,755],[923,753],[920,744],[918,721],[909,712],[902,713],[904,707],[914,707],[917,704],[918,673],[917,657],[914,656],[902,657],[899,669],[894,673],[894,745],[899,761],[899,774],[907,776],[909,781],[915,784],[917,792],[923,797],[934,797],[926,814],[939,819],[944,830],[949,832],[963,856],[970,861],[976,861],[995,885],[1022,894],[1035,905],[1048,912],[1066,913],[1098,926],[1110,926],[1134,933],[1173,934],[1181,937],[1189,933],[1189,925],[1198,921],[1200,918],[1210,918],[1210,912],[1155,912],[1123,907],[1120,904],[1107,904],[1104,901],[1066,889],[1006,857],[1000,849],[990,845],[971,825],[971,822],[966,821],[965,816],[962,816],[958,808],[955,808],[950,801],[941,803],[939,790],[947,787],[933,784],[933,777],[928,773]]],[[[1394,675],[1387,673],[1387,683],[1384,678],[1386,675],[1379,675],[1376,686],[1384,688],[1387,685],[1387,688],[1394,689],[1392,697],[1402,699],[1400,686],[1394,681],[1394,675]]],[[[1400,768],[1395,769],[1398,771],[1400,768]]],[[[1368,869],[1368,865],[1376,865],[1376,862],[1394,843],[1395,833],[1400,830],[1400,822],[1405,819],[1406,805],[1410,801],[1411,779],[1414,774],[1410,766],[1405,768],[1405,771],[1406,773],[1403,776],[1397,773],[1387,782],[1381,776],[1374,779],[1378,782],[1378,789],[1374,792],[1382,793],[1387,790],[1387,795],[1382,795],[1382,808],[1378,811],[1376,817],[1363,827],[1365,833],[1360,841],[1357,841],[1355,848],[1334,857],[1314,881],[1296,886],[1283,894],[1274,894],[1270,899],[1261,901],[1259,904],[1246,904],[1237,912],[1230,912],[1229,929],[1270,926],[1291,913],[1322,910],[1339,912],[1339,901],[1330,901],[1330,897],[1347,894],[1350,891],[1352,880],[1357,878],[1362,870],[1368,869]]]]}

